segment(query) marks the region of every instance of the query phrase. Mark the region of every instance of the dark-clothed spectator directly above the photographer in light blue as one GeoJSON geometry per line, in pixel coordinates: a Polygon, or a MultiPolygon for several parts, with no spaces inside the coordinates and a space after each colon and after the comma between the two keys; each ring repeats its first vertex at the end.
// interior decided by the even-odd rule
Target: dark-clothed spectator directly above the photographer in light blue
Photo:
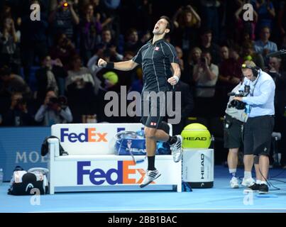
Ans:
{"type": "Polygon", "coordinates": [[[60,59],[52,60],[49,55],[42,60],[42,66],[35,72],[37,79],[37,99],[43,103],[49,89],[52,89],[56,95],[63,95],[65,92],[65,82],[67,72],[62,67],[60,59]],[[61,84],[61,86],[59,86],[61,84]]]}

